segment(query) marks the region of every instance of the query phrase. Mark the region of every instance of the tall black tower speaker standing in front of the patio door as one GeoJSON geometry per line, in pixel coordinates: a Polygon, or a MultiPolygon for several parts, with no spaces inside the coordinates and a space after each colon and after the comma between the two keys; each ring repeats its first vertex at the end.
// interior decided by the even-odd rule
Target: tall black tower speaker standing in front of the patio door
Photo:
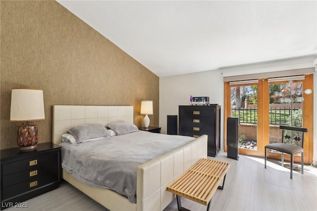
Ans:
{"type": "Polygon", "coordinates": [[[239,159],[237,117],[227,118],[227,158],[239,159]]]}

